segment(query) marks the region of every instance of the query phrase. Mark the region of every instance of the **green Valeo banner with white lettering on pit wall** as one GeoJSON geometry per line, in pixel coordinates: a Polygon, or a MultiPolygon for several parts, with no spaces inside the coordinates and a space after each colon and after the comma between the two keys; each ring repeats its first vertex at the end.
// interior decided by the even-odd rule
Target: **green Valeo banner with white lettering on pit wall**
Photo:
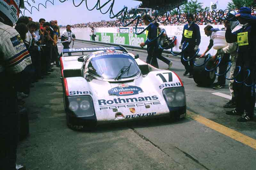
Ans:
{"type": "Polygon", "coordinates": [[[136,35],[134,33],[96,32],[95,41],[100,41],[104,43],[115,43],[120,45],[140,46],[140,43],[146,41],[146,34],[136,35]]]}

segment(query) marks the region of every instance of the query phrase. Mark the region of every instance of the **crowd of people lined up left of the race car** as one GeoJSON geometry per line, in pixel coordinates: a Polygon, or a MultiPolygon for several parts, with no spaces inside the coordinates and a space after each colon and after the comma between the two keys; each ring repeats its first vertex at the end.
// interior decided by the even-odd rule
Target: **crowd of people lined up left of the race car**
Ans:
{"type": "Polygon", "coordinates": [[[51,74],[54,71],[53,64],[60,67],[57,47],[60,30],[57,20],[46,22],[41,18],[39,22],[34,22],[31,17],[25,16],[18,19],[15,30],[20,34],[25,44],[23,48],[28,49],[32,61],[26,71],[28,79],[22,82],[18,89],[18,100],[21,106],[24,103],[22,99],[28,97],[30,88],[34,87],[33,83],[51,74]]]}

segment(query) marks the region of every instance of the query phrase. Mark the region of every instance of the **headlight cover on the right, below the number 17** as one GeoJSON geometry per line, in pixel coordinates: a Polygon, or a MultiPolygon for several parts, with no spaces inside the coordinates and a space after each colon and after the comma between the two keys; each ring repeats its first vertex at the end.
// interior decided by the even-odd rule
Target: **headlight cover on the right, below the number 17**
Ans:
{"type": "Polygon", "coordinates": [[[181,107],[186,105],[184,87],[166,88],[163,90],[163,95],[169,107],[181,107]]]}

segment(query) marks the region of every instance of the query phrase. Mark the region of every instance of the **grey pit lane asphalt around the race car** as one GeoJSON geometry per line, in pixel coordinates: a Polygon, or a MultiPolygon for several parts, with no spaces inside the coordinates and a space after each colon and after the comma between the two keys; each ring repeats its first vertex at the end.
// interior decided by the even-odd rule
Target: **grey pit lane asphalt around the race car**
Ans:
{"type": "MultiPolygon", "coordinates": [[[[102,45],[76,41],[74,48],[96,46],[102,45]]],[[[138,53],[141,60],[146,60],[146,52],[132,53],[138,53]]],[[[105,125],[92,132],[72,131],[66,126],[60,69],[54,67],[55,71],[36,82],[29,98],[25,99],[30,136],[20,143],[17,162],[25,164],[28,170],[254,170],[256,150],[253,144],[231,138],[237,134],[229,136],[222,133],[231,130],[240,132],[251,137],[246,138],[249,143],[256,139],[256,122],[238,123],[238,117],[226,115],[225,112],[230,109],[222,107],[228,99],[212,94],[221,92],[230,95],[228,81],[226,87],[219,90],[197,87],[193,79],[183,76],[184,66],[180,59],[169,59],[173,62],[171,70],[184,83],[187,110],[206,118],[206,122],[215,122],[214,126],[220,126],[220,132],[205,125],[204,121],[193,119],[191,114],[174,123],[148,120],[105,125]],[[221,128],[221,125],[227,129],[221,128]]],[[[158,64],[161,69],[168,67],[162,61],[158,64]]]]}

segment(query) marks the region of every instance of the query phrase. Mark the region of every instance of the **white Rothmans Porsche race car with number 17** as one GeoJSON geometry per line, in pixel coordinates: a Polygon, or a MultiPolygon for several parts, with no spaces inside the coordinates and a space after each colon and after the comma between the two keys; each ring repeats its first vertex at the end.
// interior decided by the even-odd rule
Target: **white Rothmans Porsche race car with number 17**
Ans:
{"type": "Polygon", "coordinates": [[[186,116],[186,95],[179,76],[145,63],[122,46],[63,49],[60,63],[64,107],[71,129],[186,116]],[[82,55],[70,56],[77,52],[82,55]]]}

